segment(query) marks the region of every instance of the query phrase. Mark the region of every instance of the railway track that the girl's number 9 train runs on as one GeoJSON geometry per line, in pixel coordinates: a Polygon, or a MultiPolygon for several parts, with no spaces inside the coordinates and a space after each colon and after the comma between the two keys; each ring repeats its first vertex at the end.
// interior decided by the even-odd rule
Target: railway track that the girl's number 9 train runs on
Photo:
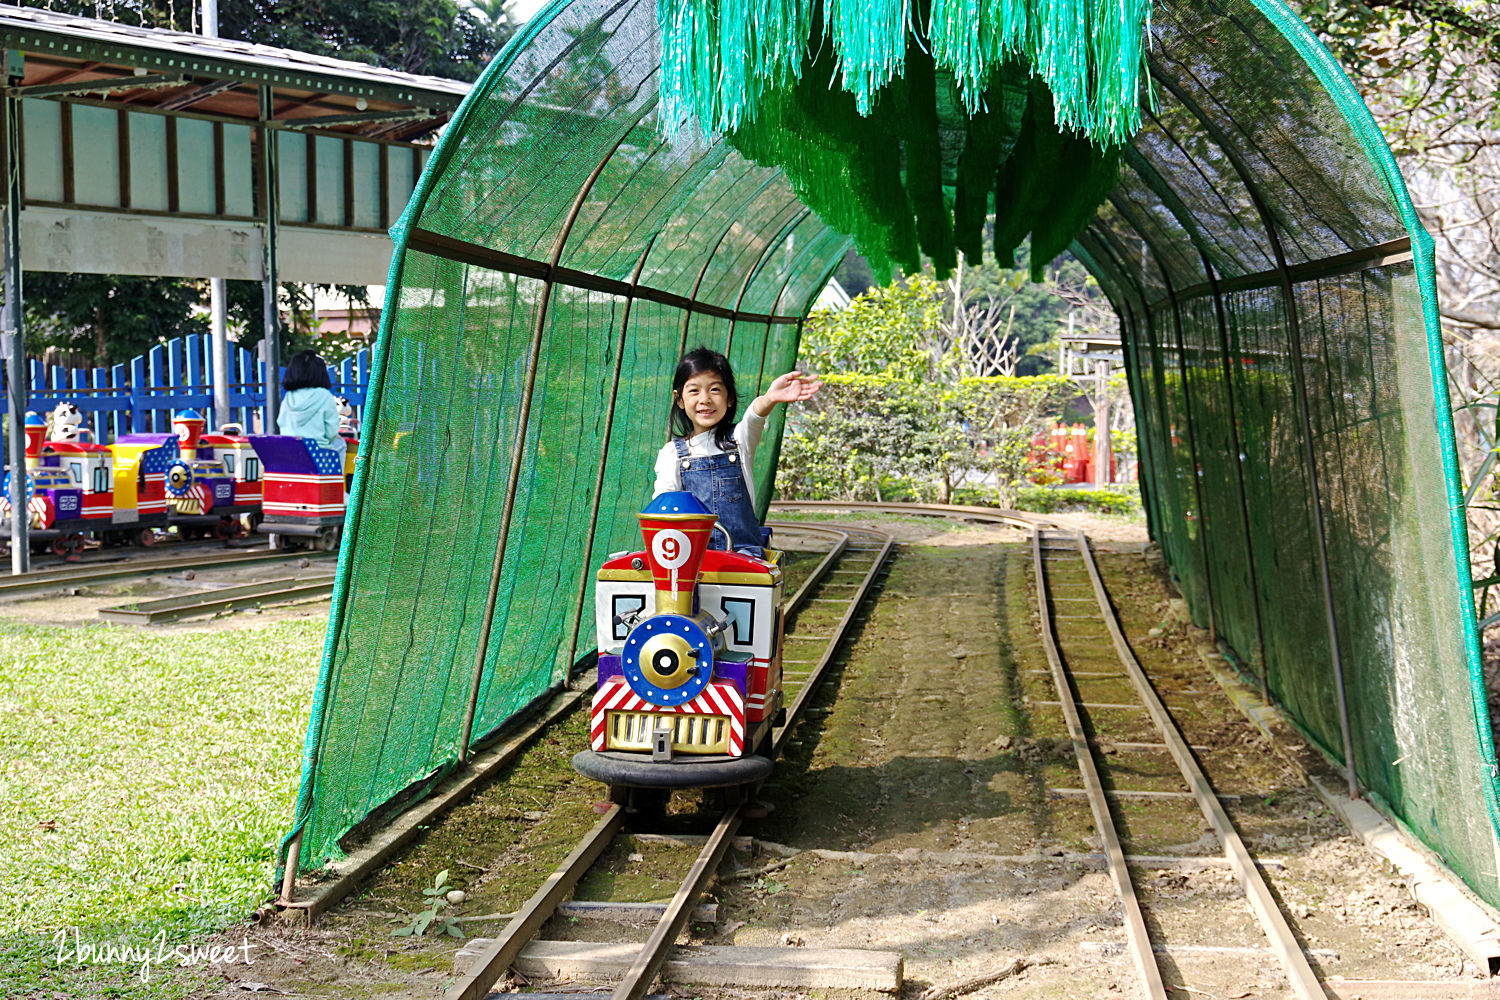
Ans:
{"type": "MultiPolygon", "coordinates": [[[[784,723],[772,732],[771,753],[778,753],[790,739],[798,720],[816,691],[828,664],[837,655],[843,637],[854,624],[860,607],[880,577],[894,547],[891,535],[864,528],[825,528],[819,525],[776,525],[778,532],[820,537],[826,553],[788,600],[783,637],[783,687],[789,699],[784,723]]],[[[729,804],[702,849],[686,865],[682,880],[651,928],[646,940],[624,951],[628,961],[614,987],[614,1000],[639,1000],[668,961],[676,939],[692,915],[704,889],[724,859],[735,832],[744,819],[746,805],[729,804]]],[[[543,925],[556,913],[588,868],[604,853],[610,841],[626,828],[626,813],[610,804],[598,823],[579,841],[540,889],[516,912],[500,937],[474,942],[468,972],[446,996],[447,1000],[482,1000],[522,957],[522,951],[543,925]],[[477,948],[474,948],[477,945],[477,948]]],[[[537,945],[548,945],[538,942],[537,945]]],[[[750,984],[746,984],[750,985],[750,984]]]]}

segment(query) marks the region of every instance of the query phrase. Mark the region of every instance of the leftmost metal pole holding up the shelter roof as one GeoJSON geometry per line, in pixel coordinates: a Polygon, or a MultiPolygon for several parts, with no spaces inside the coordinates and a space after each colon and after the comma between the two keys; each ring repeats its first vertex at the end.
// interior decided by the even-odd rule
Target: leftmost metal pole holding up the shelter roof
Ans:
{"type": "Polygon", "coordinates": [[[32,564],[26,490],[26,330],[21,313],[21,100],[4,99],[4,313],[0,354],[6,370],[6,420],[10,451],[10,573],[32,564]]]}

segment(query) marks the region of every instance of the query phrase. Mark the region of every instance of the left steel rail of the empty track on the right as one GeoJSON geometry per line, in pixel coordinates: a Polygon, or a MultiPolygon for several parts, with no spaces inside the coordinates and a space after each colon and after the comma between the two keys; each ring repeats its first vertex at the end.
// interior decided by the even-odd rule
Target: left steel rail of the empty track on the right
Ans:
{"type": "Polygon", "coordinates": [[[1110,880],[1114,892],[1120,898],[1125,916],[1125,940],[1130,945],[1131,960],[1140,975],[1142,988],[1149,1000],[1167,1000],[1167,987],[1161,979],[1161,967],[1156,955],[1150,949],[1150,934],[1146,933],[1146,918],[1140,910],[1140,900],[1136,897],[1136,886],[1130,879],[1130,868],[1125,862],[1125,849],[1120,847],[1119,832],[1110,817],[1108,798],[1104,795],[1104,783],[1100,781],[1100,771],[1094,763],[1089,750],[1089,736],[1083,730],[1083,720],[1078,717],[1078,706],[1074,703],[1072,685],[1068,682],[1066,669],[1062,666],[1062,654],[1058,652],[1058,640],[1053,636],[1052,612],[1047,607],[1047,568],[1042,559],[1042,532],[1032,532],[1032,568],[1036,574],[1036,613],[1040,621],[1041,645],[1047,654],[1047,664],[1052,667],[1052,682],[1058,688],[1058,700],[1062,703],[1062,715],[1068,723],[1068,738],[1072,741],[1072,756],[1078,762],[1078,775],[1089,796],[1089,811],[1094,813],[1094,826],[1100,831],[1100,841],[1104,847],[1104,859],[1108,864],[1110,880]]]}

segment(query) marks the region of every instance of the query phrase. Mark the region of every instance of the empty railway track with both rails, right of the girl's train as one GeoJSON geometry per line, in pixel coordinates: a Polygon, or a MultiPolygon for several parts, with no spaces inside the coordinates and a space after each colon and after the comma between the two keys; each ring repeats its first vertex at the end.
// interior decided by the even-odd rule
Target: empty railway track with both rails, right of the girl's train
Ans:
{"type": "Polygon", "coordinates": [[[1032,535],[1032,556],[1041,639],[1058,691],[1056,705],[1066,720],[1143,994],[1149,1000],[1166,1000],[1168,990],[1179,996],[1184,990],[1222,996],[1218,990],[1206,990],[1254,982],[1254,964],[1269,948],[1281,963],[1292,996],[1323,1000],[1326,994],[1317,973],[1254,858],[1125,642],[1086,537],[1038,529],[1032,535]],[[1110,753],[1104,753],[1100,730],[1106,727],[1128,742],[1112,741],[1110,753]],[[1164,757],[1176,765],[1174,781],[1164,757]],[[1172,784],[1174,787],[1168,787],[1172,784]],[[1218,838],[1240,888],[1240,895],[1218,900],[1218,912],[1174,913],[1154,880],[1128,865],[1122,843],[1130,831],[1152,822],[1148,811],[1160,822],[1164,808],[1197,808],[1202,822],[1218,838]],[[1254,931],[1244,927],[1248,924],[1246,906],[1263,934],[1258,948],[1254,931]],[[1196,963],[1204,955],[1212,955],[1212,969],[1196,963]],[[1196,964],[1197,987],[1167,982],[1168,978],[1190,979],[1186,969],[1196,964]],[[1212,982],[1204,982],[1208,979],[1212,982]]]}

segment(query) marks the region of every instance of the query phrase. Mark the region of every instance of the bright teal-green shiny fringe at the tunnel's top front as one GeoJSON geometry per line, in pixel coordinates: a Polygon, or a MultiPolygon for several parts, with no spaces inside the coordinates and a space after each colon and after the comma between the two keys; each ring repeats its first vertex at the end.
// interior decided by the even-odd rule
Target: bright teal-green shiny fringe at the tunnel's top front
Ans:
{"type": "Polygon", "coordinates": [[[765,93],[800,79],[825,45],[830,82],[861,115],[921,52],[970,115],[992,76],[1020,61],[1046,81],[1059,127],[1102,147],[1140,127],[1150,0],[657,0],[657,18],[669,129],[684,117],[710,132],[754,121],[765,93]]]}

